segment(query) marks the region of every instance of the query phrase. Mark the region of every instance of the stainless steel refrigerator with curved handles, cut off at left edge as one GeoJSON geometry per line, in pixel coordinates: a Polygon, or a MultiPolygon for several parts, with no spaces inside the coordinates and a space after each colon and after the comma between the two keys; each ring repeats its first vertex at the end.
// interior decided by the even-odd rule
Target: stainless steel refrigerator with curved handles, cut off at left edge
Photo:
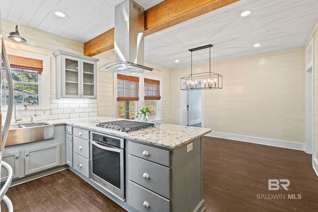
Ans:
{"type": "MultiPolygon", "coordinates": [[[[6,51],[5,51],[5,46],[4,46],[4,41],[3,41],[3,37],[2,37],[2,28],[1,28],[1,8],[0,8],[0,62],[1,65],[3,63],[3,67],[4,67],[4,71],[1,71],[1,75],[0,75],[0,80],[1,80],[1,92],[0,92],[0,124],[1,124],[1,136],[0,136],[0,143],[1,143],[1,149],[0,149],[0,166],[4,169],[7,170],[8,172],[8,177],[5,181],[5,183],[3,184],[1,190],[0,190],[0,201],[3,201],[5,203],[5,205],[8,208],[9,212],[13,211],[13,206],[12,203],[10,201],[10,199],[5,196],[6,191],[8,190],[11,181],[12,181],[12,168],[9,164],[7,164],[6,162],[2,161],[2,154],[3,154],[3,150],[5,147],[5,141],[9,132],[9,128],[10,128],[10,122],[11,122],[11,117],[12,117],[12,109],[13,109],[13,81],[12,81],[12,75],[11,75],[11,69],[10,69],[10,65],[9,65],[9,61],[8,61],[8,57],[6,55],[6,51]],[[2,74],[6,75],[6,80],[7,80],[7,87],[3,87],[2,86],[2,74]],[[8,89],[8,96],[3,96],[3,91],[2,89],[8,89]],[[5,101],[8,101],[8,107],[7,107],[7,111],[6,111],[6,118],[4,121],[4,125],[2,125],[2,110],[1,110],[1,105],[5,105],[5,101]]],[[[1,169],[0,169],[0,176],[1,176],[1,169]]],[[[1,208],[0,208],[1,211],[1,208]]]]}

